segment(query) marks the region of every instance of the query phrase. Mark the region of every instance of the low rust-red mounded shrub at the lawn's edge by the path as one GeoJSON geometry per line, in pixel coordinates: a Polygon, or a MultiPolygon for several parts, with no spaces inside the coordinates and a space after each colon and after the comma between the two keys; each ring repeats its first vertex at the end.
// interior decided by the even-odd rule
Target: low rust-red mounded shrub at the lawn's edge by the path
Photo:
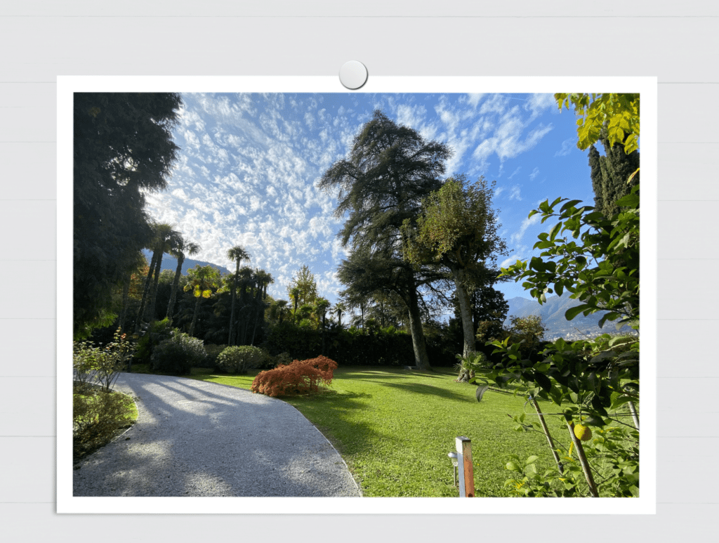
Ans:
{"type": "Polygon", "coordinates": [[[273,370],[258,373],[250,390],[273,398],[312,394],[319,390],[320,384],[329,385],[332,382],[332,372],[336,369],[337,362],[324,356],[293,360],[290,365],[279,365],[273,370]]]}

